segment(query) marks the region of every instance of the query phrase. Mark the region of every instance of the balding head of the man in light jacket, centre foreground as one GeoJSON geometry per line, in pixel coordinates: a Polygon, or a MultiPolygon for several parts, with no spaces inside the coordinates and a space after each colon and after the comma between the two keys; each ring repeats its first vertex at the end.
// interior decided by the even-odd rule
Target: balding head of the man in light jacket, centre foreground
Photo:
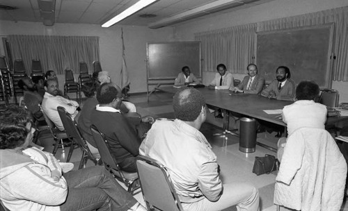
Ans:
{"type": "Polygon", "coordinates": [[[173,96],[175,118],[182,121],[195,121],[201,117],[205,121],[205,98],[202,93],[193,88],[179,90],[173,96]]]}

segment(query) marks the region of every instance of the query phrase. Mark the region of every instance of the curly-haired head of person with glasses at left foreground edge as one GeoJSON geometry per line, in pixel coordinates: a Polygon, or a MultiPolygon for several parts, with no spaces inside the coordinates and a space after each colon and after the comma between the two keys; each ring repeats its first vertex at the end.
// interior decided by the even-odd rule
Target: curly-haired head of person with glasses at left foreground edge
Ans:
{"type": "Polygon", "coordinates": [[[24,149],[33,140],[35,129],[29,113],[18,105],[0,112],[0,149],[24,149]]]}

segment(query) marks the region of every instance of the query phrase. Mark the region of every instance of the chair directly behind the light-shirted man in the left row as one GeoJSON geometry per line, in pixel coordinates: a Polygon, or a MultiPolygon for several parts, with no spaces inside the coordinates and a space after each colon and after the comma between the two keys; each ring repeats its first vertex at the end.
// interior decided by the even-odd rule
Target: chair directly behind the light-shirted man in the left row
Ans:
{"type": "MultiPolygon", "coordinates": [[[[51,121],[51,119],[49,119],[47,117],[47,115],[45,114],[45,112],[42,110],[42,106],[40,104],[39,104],[39,106],[40,106],[40,110],[41,110],[42,114],[45,117],[45,121],[46,121],[46,124],[47,124],[47,126],[49,128],[49,132],[51,132],[51,135],[52,135],[54,141],[56,142],[56,144],[54,144],[54,149],[53,149],[52,154],[56,155],[56,152],[58,150],[58,146],[61,146],[61,148],[63,148],[63,152],[64,152],[63,139],[67,139],[68,135],[65,132],[63,132],[63,131],[59,130],[58,128],[56,128],[56,126],[51,121]],[[59,144],[59,142],[61,142],[61,144],[59,144]]],[[[67,158],[66,162],[69,162],[69,161],[70,161],[70,157],[68,155],[68,158],[67,158]]]]}

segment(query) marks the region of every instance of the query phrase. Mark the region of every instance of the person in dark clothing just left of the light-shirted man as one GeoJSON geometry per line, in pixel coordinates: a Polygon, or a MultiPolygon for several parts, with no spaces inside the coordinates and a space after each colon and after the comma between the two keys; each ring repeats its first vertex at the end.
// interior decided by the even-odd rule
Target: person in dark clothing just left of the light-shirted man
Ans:
{"type": "Polygon", "coordinates": [[[26,108],[38,121],[45,120],[40,111],[39,104],[42,102],[42,96],[38,93],[38,89],[29,77],[24,77],[18,81],[18,86],[24,91],[24,102],[26,108]]]}

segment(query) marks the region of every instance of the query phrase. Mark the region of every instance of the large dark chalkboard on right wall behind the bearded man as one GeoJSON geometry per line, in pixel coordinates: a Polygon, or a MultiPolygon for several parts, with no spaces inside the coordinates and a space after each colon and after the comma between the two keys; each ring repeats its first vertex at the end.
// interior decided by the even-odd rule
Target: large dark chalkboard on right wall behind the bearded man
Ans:
{"type": "Polygon", "coordinates": [[[295,83],[315,81],[331,88],[333,24],[257,33],[256,64],[267,82],[276,79],[276,68],[290,68],[295,83]]]}

